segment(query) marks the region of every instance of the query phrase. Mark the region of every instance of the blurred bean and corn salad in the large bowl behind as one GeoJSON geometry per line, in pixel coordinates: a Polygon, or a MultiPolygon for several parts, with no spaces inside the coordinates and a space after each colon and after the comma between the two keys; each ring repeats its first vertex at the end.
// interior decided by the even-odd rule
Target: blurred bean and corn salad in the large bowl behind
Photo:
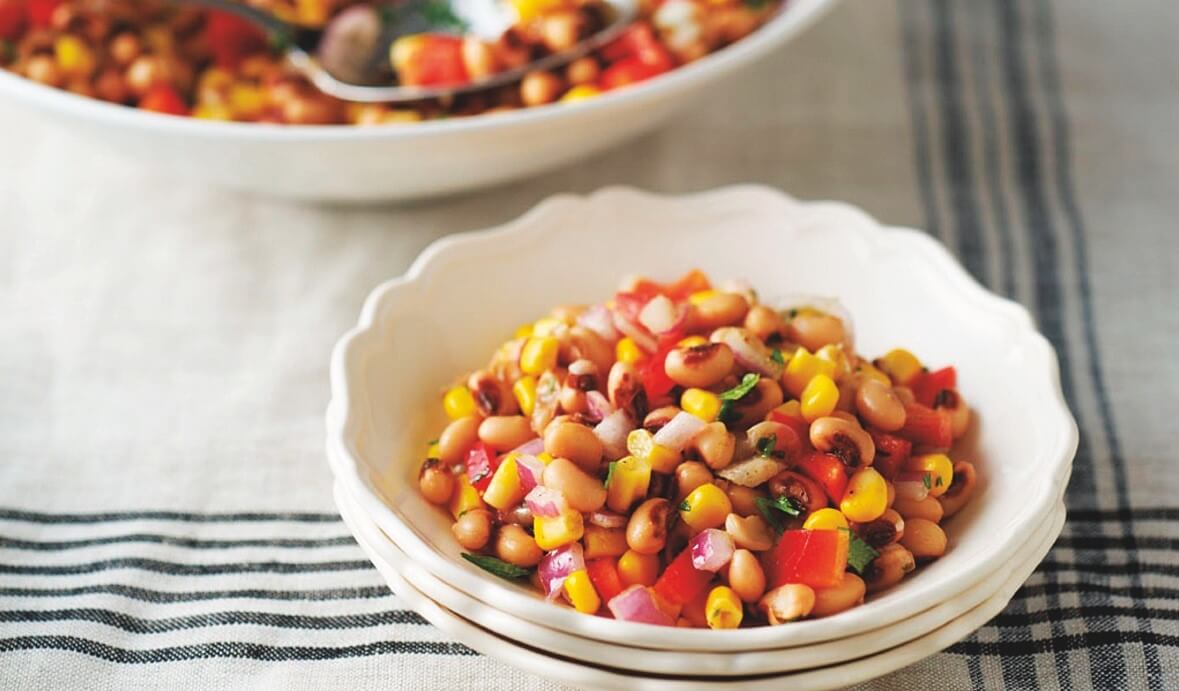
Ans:
{"type": "MultiPolygon", "coordinates": [[[[243,1],[310,27],[348,24],[374,6],[390,5],[243,1]]],[[[460,84],[561,51],[600,22],[594,0],[511,2],[519,21],[499,40],[444,33],[404,37],[390,50],[393,72],[407,85],[460,84]]],[[[401,124],[594,98],[744,38],[777,5],[640,0],[639,21],[560,70],[531,72],[493,91],[396,106],[325,96],[284,64],[282,46],[248,22],[164,0],[0,0],[0,67],[81,96],[174,116],[298,125],[401,124]]]]}

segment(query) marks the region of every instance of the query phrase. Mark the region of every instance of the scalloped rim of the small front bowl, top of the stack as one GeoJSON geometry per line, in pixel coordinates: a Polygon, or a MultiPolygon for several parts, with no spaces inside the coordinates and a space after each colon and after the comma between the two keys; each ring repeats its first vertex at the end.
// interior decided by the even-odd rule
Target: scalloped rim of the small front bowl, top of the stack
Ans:
{"type": "MultiPolygon", "coordinates": [[[[388,301],[397,298],[400,288],[423,279],[432,274],[434,268],[444,264],[441,261],[442,256],[452,251],[462,251],[463,246],[477,251],[483,243],[496,242],[507,236],[539,237],[545,235],[546,229],[551,225],[546,219],[560,218],[571,210],[585,209],[586,205],[601,204],[607,208],[619,208],[626,203],[644,205],[648,209],[660,205],[679,206],[679,212],[683,212],[683,208],[692,205],[724,209],[772,209],[778,217],[792,219],[799,226],[803,226],[808,219],[837,218],[844,222],[844,226],[854,229],[854,236],[875,252],[888,254],[901,250],[920,252],[926,259],[927,269],[936,271],[943,284],[955,290],[956,298],[961,300],[964,307],[994,315],[1005,321],[1006,331],[1010,334],[1013,344],[1019,345],[1035,363],[1035,371],[1042,371],[1047,375],[1047,381],[1040,382],[1040,388],[1045,388],[1043,384],[1047,384],[1047,390],[1041,390],[1040,394],[1046,394],[1046,401],[1042,401],[1045,403],[1043,414],[1052,422],[1048,429],[1054,430],[1052,439],[1046,440],[1047,448],[1052,450],[1046,453],[1043,459],[1043,462],[1048,465],[1045,470],[1046,480],[1050,481],[1038,487],[1039,492],[1033,495],[1034,499],[1023,505],[1025,511],[1013,514],[1005,539],[995,540],[993,546],[980,551],[980,560],[983,562],[1001,561],[1003,553],[1012,545],[1013,538],[1010,535],[1027,534],[1035,522],[1041,520],[1046,512],[1055,505],[1067,482],[1078,441],[1076,423],[1068,410],[1060,387],[1060,370],[1055,351],[1048,341],[1035,330],[1027,310],[984,289],[966,272],[941,243],[916,230],[882,226],[863,211],[848,204],[798,202],[777,190],[758,185],[723,187],[685,197],[665,197],[627,187],[607,187],[588,197],[553,197],[514,222],[499,228],[453,235],[436,241],[419,256],[404,276],[388,281],[374,289],[364,303],[358,324],[340,340],[332,353],[332,404],[329,406],[327,426],[328,443],[336,448],[338,454],[329,454],[329,462],[336,476],[354,489],[351,494],[367,507],[382,529],[390,534],[396,533],[399,545],[411,553],[415,559],[422,560],[423,566],[441,580],[455,585],[476,599],[502,603],[502,606],[523,618],[577,632],[580,636],[605,640],[625,638],[635,645],[648,647],[666,647],[668,645],[668,630],[666,627],[586,617],[565,607],[556,607],[513,587],[495,583],[494,579],[480,578],[479,574],[463,568],[463,565],[459,565],[449,557],[436,552],[426,539],[417,534],[417,528],[411,522],[399,515],[400,509],[382,501],[362,479],[361,462],[350,439],[351,410],[348,406],[350,402],[350,362],[355,360],[353,350],[358,347],[357,341],[362,334],[383,328],[377,324],[376,317],[383,311],[388,301]],[[334,413],[337,407],[338,410],[334,413]]],[[[934,581],[920,590],[920,598],[918,591],[910,585],[907,591],[896,591],[897,593],[903,592],[902,597],[871,601],[854,611],[821,620],[797,623],[789,627],[743,629],[724,632],[674,630],[674,647],[755,650],[826,640],[863,630],[863,619],[869,616],[875,616],[875,620],[881,620],[882,617],[893,617],[889,620],[896,620],[911,616],[928,608],[917,601],[918,599],[924,598],[926,601],[944,599],[971,587],[986,575],[986,573],[968,572],[959,578],[934,581]]]]}

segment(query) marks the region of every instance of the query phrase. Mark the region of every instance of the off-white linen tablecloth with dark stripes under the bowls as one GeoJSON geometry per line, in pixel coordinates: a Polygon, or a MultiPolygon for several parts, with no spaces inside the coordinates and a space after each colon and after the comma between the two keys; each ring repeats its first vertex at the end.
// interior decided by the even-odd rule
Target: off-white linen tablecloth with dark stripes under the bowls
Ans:
{"type": "Polygon", "coordinates": [[[407,611],[348,537],[331,343],[432,239],[549,193],[763,182],[943,239],[1033,311],[1080,423],[1063,535],[1010,606],[865,687],[1179,687],[1177,26],[1148,0],[849,1],[631,146],[400,209],[160,178],[0,104],[0,686],[548,687],[407,611]]]}

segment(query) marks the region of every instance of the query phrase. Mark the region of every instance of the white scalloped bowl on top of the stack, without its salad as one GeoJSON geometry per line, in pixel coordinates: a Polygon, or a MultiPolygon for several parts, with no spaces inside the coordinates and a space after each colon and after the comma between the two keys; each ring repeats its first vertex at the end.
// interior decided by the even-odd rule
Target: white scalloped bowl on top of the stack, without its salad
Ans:
{"type": "Polygon", "coordinates": [[[422,568],[542,626],[670,650],[832,640],[976,586],[1049,515],[1078,440],[1055,353],[1021,307],[984,290],[924,233],[756,186],[678,198],[627,189],[555,197],[502,228],[443,238],[369,296],[360,324],[332,353],[331,391],[328,456],[337,480],[422,568]],[[948,521],[943,558],[835,617],[737,631],[579,614],[459,558],[449,514],[416,489],[421,449],[444,425],[440,390],[554,304],[600,301],[621,276],[670,278],[692,266],[717,279],[747,278],[769,303],[799,292],[837,296],[855,321],[857,350],[904,345],[926,362],[957,367],[975,416],[955,455],[977,463],[981,482],[948,521]]]}

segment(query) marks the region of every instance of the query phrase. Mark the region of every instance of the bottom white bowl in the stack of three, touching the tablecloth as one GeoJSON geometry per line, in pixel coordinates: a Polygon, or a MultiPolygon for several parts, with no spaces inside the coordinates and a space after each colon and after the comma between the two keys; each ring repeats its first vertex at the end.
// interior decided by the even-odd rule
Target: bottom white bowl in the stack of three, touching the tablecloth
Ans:
{"type": "MultiPolygon", "coordinates": [[[[401,564],[408,561],[396,546],[381,535],[380,529],[363,512],[336,486],[336,502],[344,522],[353,529],[364,553],[381,572],[393,591],[422,614],[428,621],[452,636],[459,643],[474,650],[495,657],[514,667],[532,672],[580,689],[619,689],[638,691],[760,691],[790,689],[791,691],[822,691],[838,689],[850,684],[865,682],[874,677],[887,674],[924,657],[944,650],[966,638],[975,629],[986,624],[992,617],[1007,606],[1020,586],[1028,579],[1036,565],[1052,548],[1060,528],[1065,522],[1065,506],[1058,504],[1049,512],[1046,531],[1035,540],[1034,547],[1026,559],[1012,559],[1007,562],[1007,577],[996,584],[996,590],[982,599],[973,608],[947,621],[940,627],[927,630],[876,654],[849,656],[839,664],[815,665],[805,670],[786,671],[777,674],[759,674],[747,677],[705,677],[692,678],[659,676],[654,671],[634,672],[602,665],[591,664],[585,656],[559,656],[551,650],[551,639],[521,643],[515,633],[522,630],[519,620],[506,626],[487,626],[468,619],[462,612],[450,608],[447,604],[435,600],[430,594],[419,590],[417,585],[402,575],[401,564]]],[[[592,641],[581,639],[582,645],[592,641]]],[[[867,651],[865,651],[867,652],[867,651]]],[[[632,651],[632,657],[645,659],[651,651],[632,651]]],[[[740,657],[742,653],[730,653],[740,657]]],[[[668,652],[668,657],[678,656],[683,674],[696,664],[698,653],[668,652]]]]}

